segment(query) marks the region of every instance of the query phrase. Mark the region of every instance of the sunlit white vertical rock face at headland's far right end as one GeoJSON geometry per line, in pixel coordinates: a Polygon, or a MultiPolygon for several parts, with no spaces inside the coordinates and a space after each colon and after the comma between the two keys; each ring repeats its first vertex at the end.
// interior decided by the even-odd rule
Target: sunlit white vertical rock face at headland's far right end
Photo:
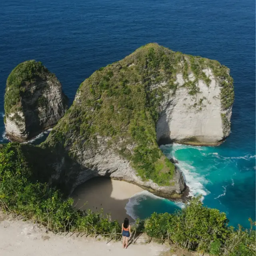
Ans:
{"type": "MultiPolygon", "coordinates": [[[[178,87],[175,94],[170,90],[161,103],[161,114],[157,124],[158,141],[169,139],[216,144],[230,134],[230,128],[224,131],[221,114],[225,114],[230,121],[231,107],[222,110],[220,85],[210,68],[203,71],[211,82],[207,86],[203,80],[199,80],[199,92],[195,95],[188,93],[188,88],[183,86],[185,81],[182,74],[177,74],[178,87]]],[[[194,80],[192,74],[189,80],[194,80]]]]}

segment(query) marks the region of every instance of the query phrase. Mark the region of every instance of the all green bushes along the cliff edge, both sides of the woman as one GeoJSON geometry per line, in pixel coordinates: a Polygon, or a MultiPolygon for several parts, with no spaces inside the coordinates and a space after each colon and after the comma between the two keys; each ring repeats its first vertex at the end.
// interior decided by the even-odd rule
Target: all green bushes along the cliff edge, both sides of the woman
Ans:
{"type": "MultiPolygon", "coordinates": [[[[110,215],[74,210],[72,199],[64,200],[60,191],[40,182],[42,177],[31,168],[24,150],[26,146],[18,144],[1,145],[0,148],[0,208],[4,212],[31,219],[55,233],[120,238],[120,225],[111,222],[110,215]]],[[[255,230],[245,230],[241,226],[234,230],[227,224],[226,214],[204,207],[200,198],[194,198],[175,214],[154,213],[146,220],[137,220],[133,232],[136,229],[150,238],[200,253],[255,255],[255,230]]]]}

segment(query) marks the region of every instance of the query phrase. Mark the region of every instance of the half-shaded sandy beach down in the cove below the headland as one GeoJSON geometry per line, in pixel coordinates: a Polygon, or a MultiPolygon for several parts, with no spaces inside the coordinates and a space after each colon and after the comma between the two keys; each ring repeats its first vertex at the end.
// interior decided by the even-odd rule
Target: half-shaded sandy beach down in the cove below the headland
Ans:
{"type": "Polygon", "coordinates": [[[78,186],[72,194],[76,208],[91,209],[94,212],[104,209],[104,213],[111,213],[112,220],[122,223],[126,214],[125,206],[134,194],[143,191],[134,184],[111,180],[108,178],[92,178],[78,186]],[[83,206],[85,203],[87,204],[83,206]]]}

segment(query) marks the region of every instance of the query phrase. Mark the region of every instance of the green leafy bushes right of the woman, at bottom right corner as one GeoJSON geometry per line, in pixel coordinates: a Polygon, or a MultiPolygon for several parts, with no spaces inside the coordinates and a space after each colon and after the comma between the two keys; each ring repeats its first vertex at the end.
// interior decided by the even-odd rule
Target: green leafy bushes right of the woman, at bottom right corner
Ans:
{"type": "Polygon", "coordinates": [[[174,214],[153,213],[145,220],[144,232],[152,238],[166,239],[188,250],[211,255],[255,255],[255,230],[228,226],[226,214],[203,206],[200,197],[174,214]]]}

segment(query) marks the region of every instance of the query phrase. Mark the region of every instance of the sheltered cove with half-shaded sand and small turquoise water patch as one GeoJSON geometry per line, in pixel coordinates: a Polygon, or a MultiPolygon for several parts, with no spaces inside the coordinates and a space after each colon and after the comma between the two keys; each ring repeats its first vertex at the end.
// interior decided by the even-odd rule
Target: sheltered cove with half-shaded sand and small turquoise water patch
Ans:
{"type": "Polygon", "coordinates": [[[120,224],[126,217],[134,222],[136,218],[146,218],[153,212],[173,213],[184,207],[182,202],[155,196],[134,184],[101,177],[79,185],[71,197],[75,208],[92,212],[103,209],[104,214],[111,213],[111,220],[118,220],[120,224]]]}

